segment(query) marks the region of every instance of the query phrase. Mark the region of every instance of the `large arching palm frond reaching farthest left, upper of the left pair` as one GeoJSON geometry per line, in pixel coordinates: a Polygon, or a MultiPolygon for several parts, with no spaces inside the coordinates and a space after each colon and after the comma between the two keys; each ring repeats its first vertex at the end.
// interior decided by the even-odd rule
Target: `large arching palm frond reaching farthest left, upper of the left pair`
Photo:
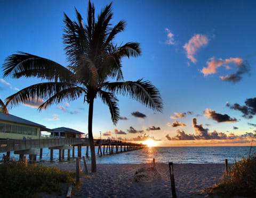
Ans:
{"type": "Polygon", "coordinates": [[[4,77],[11,75],[12,78],[21,76],[34,76],[41,79],[69,81],[73,78],[73,73],[66,67],[32,54],[18,51],[19,54],[10,55],[3,64],[4,77]]]}

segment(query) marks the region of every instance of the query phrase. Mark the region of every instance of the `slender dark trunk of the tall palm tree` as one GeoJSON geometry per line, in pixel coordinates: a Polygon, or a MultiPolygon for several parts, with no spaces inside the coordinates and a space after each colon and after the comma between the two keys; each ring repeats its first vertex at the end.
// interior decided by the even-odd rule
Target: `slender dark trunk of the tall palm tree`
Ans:
{"type": "Polygon", "coordinates": [[[94,99],[91,99],[89,102],[89,114],[88,114],[88,136],[89,136],[89,143],[90,143],[90,149],[91,149],[91,159],[92,159],[92,173],[95,173],[97,171],[96,167],[96,156],[95,156],[95,149],[94,149],[94,141],[93,141],[93,135],[92,135],[92,117],[93,117],[93,102],[94,99]]]}

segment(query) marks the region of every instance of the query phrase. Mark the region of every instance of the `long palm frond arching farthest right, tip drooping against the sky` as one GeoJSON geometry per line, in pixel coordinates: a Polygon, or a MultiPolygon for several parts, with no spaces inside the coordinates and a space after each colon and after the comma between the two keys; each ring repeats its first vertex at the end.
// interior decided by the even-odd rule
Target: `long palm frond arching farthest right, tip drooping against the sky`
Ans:
{"type": "Polygon", "coordinates": [[[129,95],[146,107],[162,112],[163,103],[160,93],[149,81],[107,82],[103,85],[106,90],[122,95],[129,95]]]}

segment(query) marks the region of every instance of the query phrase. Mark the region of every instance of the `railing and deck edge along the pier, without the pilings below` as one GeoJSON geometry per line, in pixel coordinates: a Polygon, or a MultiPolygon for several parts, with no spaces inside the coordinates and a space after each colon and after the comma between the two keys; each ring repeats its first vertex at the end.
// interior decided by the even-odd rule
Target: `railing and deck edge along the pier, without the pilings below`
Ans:
{"type": "MultiPolygon", "coordinates": [[[[137,145],[131,142],[115,140],[94,139],[94,145],[137,145]]],[[[89,139],[86,138],[60,138],[60,139],[28,139],[28,140],[0,140],[0,152],[19,151],[27,149],[41,149],[59,147],[63,145],[89,146],[89,139]]],[[[141,144],[138,144],[141,145],[141,144]]]]}

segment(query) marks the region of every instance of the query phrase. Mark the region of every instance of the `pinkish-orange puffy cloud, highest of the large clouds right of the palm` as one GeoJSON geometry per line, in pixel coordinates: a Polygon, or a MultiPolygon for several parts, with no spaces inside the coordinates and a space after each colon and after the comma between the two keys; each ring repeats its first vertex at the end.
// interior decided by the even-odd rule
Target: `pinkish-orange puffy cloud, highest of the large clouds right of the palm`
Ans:
{"type": "Polygon", "coordinates": [[[194,35],[184,46],[183,48],[187,51],[187,58],[191,62],[196,63],[197,59],[194,57],[197,50],[205,45],[207,45],[209,39],[204,35],[194,35]]]}

